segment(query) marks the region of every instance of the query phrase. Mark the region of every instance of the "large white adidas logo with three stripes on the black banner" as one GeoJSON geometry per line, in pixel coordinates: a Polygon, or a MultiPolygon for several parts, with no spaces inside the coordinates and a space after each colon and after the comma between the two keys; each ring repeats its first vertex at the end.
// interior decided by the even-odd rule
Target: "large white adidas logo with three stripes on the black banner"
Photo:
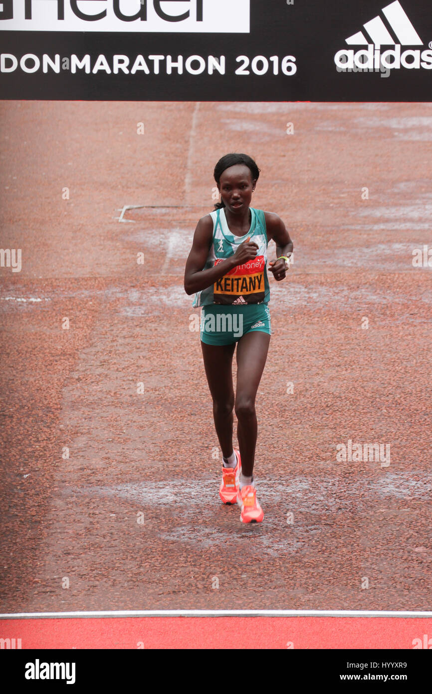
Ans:
{"type": "Polygon", "coordinates": [[[356,53],[354,49],[338,51],[334,56],[336,66],[349,70],[352,70],[354,66],[365,70],[379,69],[381,65],[388,69],[401,67],[432,69],[432,42],[429,43],[429,49],[424,51],[407,49],[401,52],[401,46],[423,46],[424,43],[399,0],[390,3],[381,12],[388,26],[379,15],[363,24],[364,31],[358,31],[349,36],[345,42],[348,46],[367,46],[367,48],[360,49],[356,53]],[[394,48],[381,53],[381,46],[394,46],[394,48]]]}

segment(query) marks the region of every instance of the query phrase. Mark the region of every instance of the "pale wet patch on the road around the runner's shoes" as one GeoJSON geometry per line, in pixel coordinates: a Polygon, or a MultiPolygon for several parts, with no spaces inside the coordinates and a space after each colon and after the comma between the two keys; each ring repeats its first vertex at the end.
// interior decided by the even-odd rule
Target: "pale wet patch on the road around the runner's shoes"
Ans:
{"type": "MultiPolygon", "coordinates": [[[[189,545],[192,550],[209,548],[243,548],[245,539],[253,538],[250,551],[259,556],[280,557],[294,555],[304,547],[311,536],[329,532],[331,514],[353,513],[359,518],[370,516],[377,500],[413,500],[431,498],[432,475],[416,473],[383,473],[379,479],[349,480],[343,477],[295,477],[281,482],[268,477],[259,482],[259,498],[272,509],[263,525],[243,525],[239,521],[238,507],[222,507],[218,503],[217,481],[185,480],[170,482],[141,482],[113,486],[83,486],[64,489],[64,496],[78,495],[92,498],[121,498],[139,503],[140,507],[175,509],[175,519],[157,525],[154,536],[164,541],[189,545]],[[413,477],[418,477],[417,480],[413,477]],[[369,493],[368,493],[369,492],[369,493]],[[231,510],[230,510],[231,509],[231,510]],[[292,511],[295,524],[286,523],[286,514],[292,511]],[[316,516],[320,523],[316,523],[316,516]],[[236,517],[234,517],[236,516],[236,517]],[[186,522],[184,522],[186,521],[186,522]],[[315,522],[314,522],[315,521],[315,522]],[[180,522],[180,524],[179,524],[180,522]],[[233,522],[229,530],[225,523],[233,522]],[[288,532],[285,532],[288,529],[288,532]]],[[[381,509],[380,509],[381,510],[381,509]]],[[[394,509],[389,509],[389,514],[394,509]]]]}

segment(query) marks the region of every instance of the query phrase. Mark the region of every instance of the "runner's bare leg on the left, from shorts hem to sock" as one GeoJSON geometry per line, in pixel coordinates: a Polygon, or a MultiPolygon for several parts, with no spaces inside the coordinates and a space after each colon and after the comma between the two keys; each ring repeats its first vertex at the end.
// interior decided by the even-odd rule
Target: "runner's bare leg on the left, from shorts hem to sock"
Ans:
{"type": "Polygon", "coordinates": [[[208,345],[201,341],[207,382],[213,399],[213,418],[216,434],[225,458],[232,454],[232,425],[234,421],[234,387],[232,356],[236,344],[208,345]]]}

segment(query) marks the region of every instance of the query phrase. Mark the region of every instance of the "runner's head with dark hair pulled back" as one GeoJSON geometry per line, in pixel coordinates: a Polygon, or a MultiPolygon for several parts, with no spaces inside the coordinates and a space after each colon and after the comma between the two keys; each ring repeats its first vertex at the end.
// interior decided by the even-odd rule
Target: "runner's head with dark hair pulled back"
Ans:
{"type": "Polygon", "coordinates": [[[228,208],[231,212],[249,208],[252,192],[257,185],[259,168],[247,154],[225,154],[214,168],[214,180],[221,193],[215,210],[228,208]]]}

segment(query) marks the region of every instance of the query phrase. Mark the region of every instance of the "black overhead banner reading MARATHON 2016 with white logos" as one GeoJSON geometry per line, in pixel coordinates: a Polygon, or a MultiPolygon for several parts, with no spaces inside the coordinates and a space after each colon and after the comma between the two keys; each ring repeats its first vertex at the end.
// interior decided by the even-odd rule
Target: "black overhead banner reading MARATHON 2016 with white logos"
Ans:
{"type": "Polygon", "coordinates": [[[3,0],[1,98],[432,100],[430,0],[175,2],[3,0]]]}

